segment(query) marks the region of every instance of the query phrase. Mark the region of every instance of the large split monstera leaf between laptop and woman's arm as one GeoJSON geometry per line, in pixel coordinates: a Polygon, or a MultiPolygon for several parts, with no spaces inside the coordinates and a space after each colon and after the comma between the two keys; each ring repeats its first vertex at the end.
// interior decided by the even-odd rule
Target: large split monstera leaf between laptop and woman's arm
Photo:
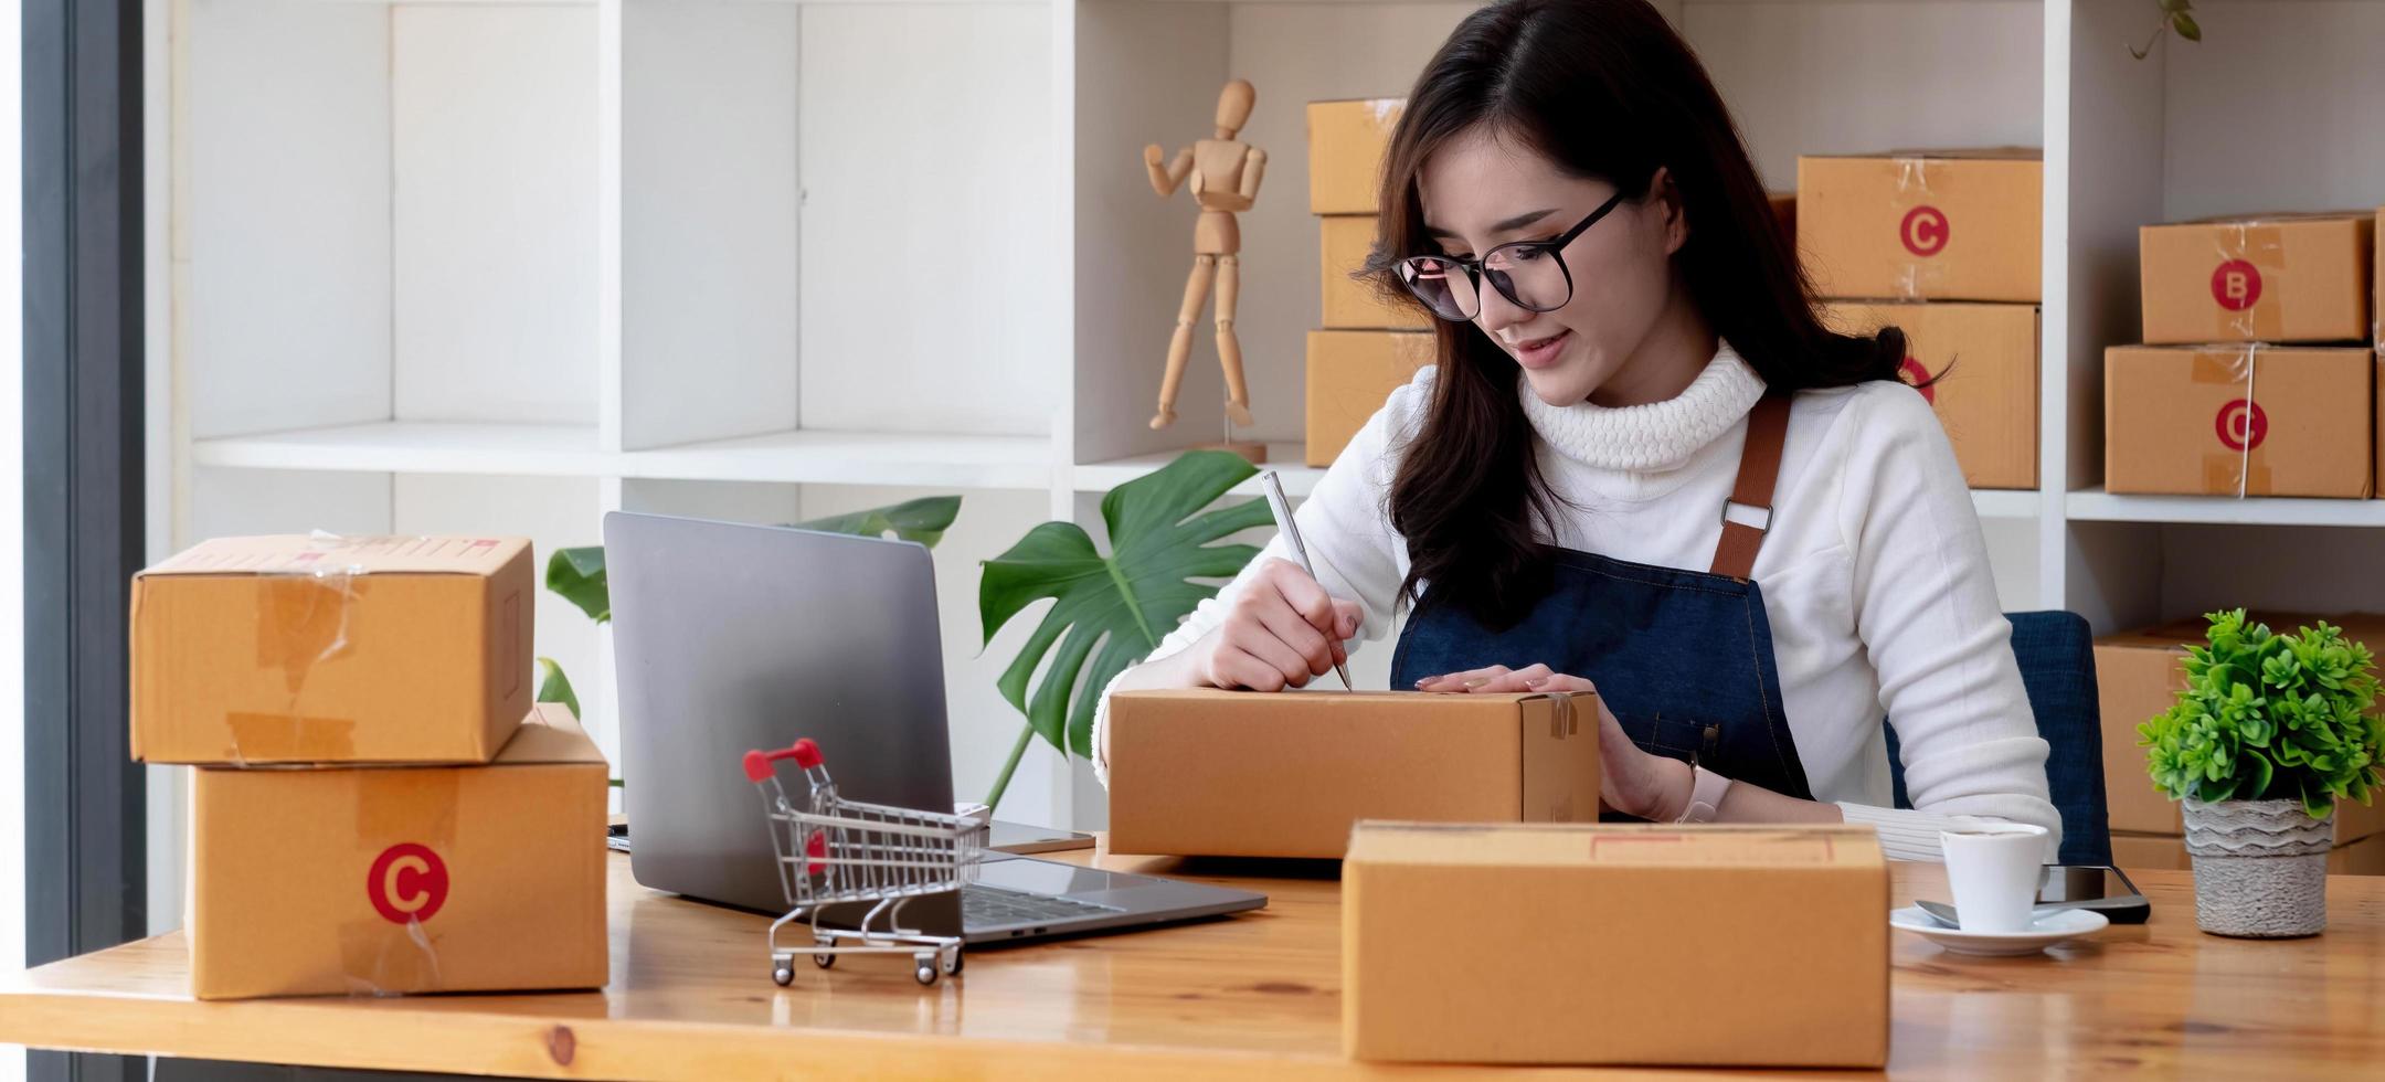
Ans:
{"type": "MultiPolygon", "coordinates": [[[[1202,510],[1255,472],[1240,455],[1192,450],[1102,498],[1109,555],[1073,522],[1045,522],[985,562],[978,612],[987,643],[1021,610],[1052,601],[999,679],[1002,698],[1028,715],[1035,736],[1092,755],[1092,708],[1109,679],[1216,596],[1221,582],[1195,579],[1231,579],[1259,555],[1255,546],[1214,541],[1269,524],[1264,500],[1202,510]],[[1042,682],[1028,694],[1037,667],[1042,682]]],[[[1021,751],[1026,741],[1021,734],[1021,751]]],[[[985,803],[997,803],[1006,782],[1009,770],[985,803]]]]}

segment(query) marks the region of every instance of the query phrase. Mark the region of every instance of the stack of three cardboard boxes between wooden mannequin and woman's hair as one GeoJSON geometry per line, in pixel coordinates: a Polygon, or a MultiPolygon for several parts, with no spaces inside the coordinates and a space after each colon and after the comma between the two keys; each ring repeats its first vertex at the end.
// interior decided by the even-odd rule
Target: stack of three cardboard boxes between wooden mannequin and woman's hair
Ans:
{"type": "Polygon", "coordinates": [[[1383,150],[1400,107],[1398,98],[1309,102],[1321,319],[1309,331],[1307,465],[1331,465],[1390,391],[1433,362],[1433,317],[1357,276],[1376,243],[1383,150]]]}

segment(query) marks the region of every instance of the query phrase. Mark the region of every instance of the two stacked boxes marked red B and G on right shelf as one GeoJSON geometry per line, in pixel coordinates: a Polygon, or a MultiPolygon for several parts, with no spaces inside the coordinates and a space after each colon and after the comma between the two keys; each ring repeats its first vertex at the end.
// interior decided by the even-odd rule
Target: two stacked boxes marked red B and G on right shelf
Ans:
{"type": "Polygon", "coordinates": [[[2104,486],[2368,496],[2375,217],[2180,222],[2137,245],[2144,346],[2104,353],[2104,486]]]}

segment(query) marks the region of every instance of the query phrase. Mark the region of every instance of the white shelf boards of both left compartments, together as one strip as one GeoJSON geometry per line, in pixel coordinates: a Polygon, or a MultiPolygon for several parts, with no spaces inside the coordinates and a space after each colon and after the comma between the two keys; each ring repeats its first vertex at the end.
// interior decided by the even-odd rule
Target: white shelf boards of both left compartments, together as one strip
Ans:
{"type": "Polygon", "coordinates": [[[651,477],[684,481],[1047,489],[1052,446],[1035,436],[778,431],[658,450],[596,450],[596,429],[560,424],[379,422],[205,439],[191,460],[234,470],[374,474],[651,477]]]}

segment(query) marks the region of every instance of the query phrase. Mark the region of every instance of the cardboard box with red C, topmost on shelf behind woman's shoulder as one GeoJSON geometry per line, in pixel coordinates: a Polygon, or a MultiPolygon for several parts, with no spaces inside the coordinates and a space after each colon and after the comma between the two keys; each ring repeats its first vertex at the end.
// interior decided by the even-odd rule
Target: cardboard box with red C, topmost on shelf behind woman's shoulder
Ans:
{"type": "Polygon", "coordinates": [[[1815,296],[2042,300],[2037,150],[1798,157],[1796,236],[1815,296]]]}

